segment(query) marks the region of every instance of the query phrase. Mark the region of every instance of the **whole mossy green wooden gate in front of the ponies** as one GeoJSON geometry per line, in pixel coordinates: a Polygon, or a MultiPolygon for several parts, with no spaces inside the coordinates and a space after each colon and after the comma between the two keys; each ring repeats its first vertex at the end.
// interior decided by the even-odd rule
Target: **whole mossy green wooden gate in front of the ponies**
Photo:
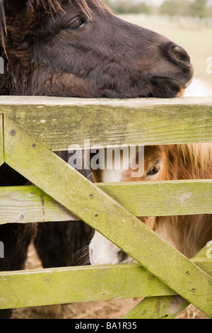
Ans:
{"type": "Polygon", "coordinates": [[[212,243],[190,260],[136,218],[211,214],[212,180],[92,184],[53,152],[83,149],[86,139],[100,147],[212,142],[212,98],[2,96],[0,165],[35,186],[0,188],[0,223],[77,217],[139,264],[1,272],[0,308],[145,297],[125,318],[174,318],[189,303],[212,317],[212,243]]]}

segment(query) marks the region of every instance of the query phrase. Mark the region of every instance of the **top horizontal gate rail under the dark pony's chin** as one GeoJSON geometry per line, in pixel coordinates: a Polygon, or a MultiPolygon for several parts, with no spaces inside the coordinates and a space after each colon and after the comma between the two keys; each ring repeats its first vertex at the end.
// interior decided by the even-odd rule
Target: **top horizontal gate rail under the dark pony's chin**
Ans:
{"type": "MultiPolygon", "coordinates": [[[[11,96],[9,96],[11,97],[11,96]]],[[[0,98],[0,113],[49,149],[212,141],[212,98],[0,98]],[[84,140],[87,140],[86,142],[84,140]]]]}

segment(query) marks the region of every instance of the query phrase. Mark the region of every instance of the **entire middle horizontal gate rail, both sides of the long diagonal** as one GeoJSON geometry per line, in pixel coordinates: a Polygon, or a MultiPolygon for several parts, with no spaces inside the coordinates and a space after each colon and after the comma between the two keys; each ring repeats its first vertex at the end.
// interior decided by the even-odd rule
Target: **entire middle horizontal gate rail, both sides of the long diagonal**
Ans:
{"type": "MultiPolygon", "coordinates": [[[[136,216],[212,213],[212,179],[97,184],[136,216]]],[[[0,188],[0,224],[78,220],[36,186],[0,188]]]]}

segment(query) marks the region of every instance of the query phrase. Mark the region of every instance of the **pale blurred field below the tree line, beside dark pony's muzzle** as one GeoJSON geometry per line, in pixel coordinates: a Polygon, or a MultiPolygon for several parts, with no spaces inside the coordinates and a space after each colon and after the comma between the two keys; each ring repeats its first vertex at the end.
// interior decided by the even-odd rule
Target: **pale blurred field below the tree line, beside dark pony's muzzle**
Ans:
{"type": "Polygon", "coordinates": [[[185,18],[163,18],[161,16],[122,15],[125,21],[154,30],[184,47],[194,67],[194,77],[212,84],[212,74],[207,74],[206,59],[212,57],[212,25],[204,21],[185,18]]]}

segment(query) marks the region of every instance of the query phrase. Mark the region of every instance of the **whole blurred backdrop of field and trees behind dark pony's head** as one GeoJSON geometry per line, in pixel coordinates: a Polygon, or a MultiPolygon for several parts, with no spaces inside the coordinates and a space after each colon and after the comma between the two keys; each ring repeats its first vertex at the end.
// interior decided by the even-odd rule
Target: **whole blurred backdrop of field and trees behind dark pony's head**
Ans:
{"type": "Polygon", "coordinates": [[[105,0],[105,3],[125,21],[155,30],[184,47],[191,57],[194,77],[212,84],[212,0],[105,0]]]}

